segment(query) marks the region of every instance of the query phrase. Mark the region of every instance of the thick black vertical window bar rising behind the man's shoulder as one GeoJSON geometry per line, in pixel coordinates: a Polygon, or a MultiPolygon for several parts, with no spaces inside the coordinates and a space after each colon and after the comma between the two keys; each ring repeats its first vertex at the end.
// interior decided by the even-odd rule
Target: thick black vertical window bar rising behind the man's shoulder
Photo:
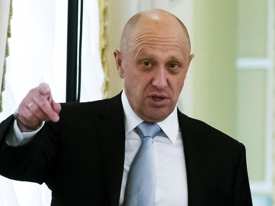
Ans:
{"type": "Polygon", "coordinates": [[[66,102],[76,102],[78,0],[68,0],[66,102]]]}

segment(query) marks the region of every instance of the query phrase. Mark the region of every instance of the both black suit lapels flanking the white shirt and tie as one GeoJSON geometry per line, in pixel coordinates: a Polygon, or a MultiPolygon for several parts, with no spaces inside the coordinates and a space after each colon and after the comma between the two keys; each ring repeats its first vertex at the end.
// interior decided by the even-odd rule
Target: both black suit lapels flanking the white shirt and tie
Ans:
{"type": "MultiPolygon", "coordinates": [[[[125,159],[125,125],[121,93],[111,98],[105,108],[105,118],[95,123],[101,145],[104,175],[112,206],[119,205],[125,159]]],[[[192,118],[178,110],[182,131],[184,157],[187,174],[188,205],[203,203],[203,189],[207,187],[205,171],[207,158],[201,138],[201,128],[192,124],[192,118]],[[204,170],[204,171],[203,171],[204,170]]]]}

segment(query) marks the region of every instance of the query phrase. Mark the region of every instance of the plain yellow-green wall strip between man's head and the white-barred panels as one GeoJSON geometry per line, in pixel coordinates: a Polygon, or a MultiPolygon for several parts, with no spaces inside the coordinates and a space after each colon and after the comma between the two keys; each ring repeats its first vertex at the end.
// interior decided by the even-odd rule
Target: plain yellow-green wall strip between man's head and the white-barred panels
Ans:
{"type": "Polygon", "coordinates": [[[193,2],[193,114],[236,138],[238,1],[193,2]]]}

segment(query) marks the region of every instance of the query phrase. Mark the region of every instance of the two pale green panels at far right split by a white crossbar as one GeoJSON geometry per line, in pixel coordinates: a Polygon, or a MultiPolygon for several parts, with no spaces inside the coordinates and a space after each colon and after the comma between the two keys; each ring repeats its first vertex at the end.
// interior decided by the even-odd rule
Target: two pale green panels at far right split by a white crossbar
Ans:
{"type": "MultiPolygon", "coordinates": [[[[239,1],[238,58],[267,57],[267,1],[239,1]]],[[[237,72],[237,139],[246,146],[250,181],[264,181],[266,164],[266,68],[237,72]]]]}

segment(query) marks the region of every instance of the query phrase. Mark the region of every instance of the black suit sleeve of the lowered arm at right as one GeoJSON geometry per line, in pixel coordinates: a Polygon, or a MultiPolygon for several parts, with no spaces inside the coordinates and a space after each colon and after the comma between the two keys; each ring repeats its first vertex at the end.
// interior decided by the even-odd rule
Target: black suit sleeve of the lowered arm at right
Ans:
{"type": "Polygon", "coordinates": [[[233,204],[234,206],[252,206],[252,198],[248,181],[245,146],[241,144],[241,154],[234,178],[233,204]]]}

